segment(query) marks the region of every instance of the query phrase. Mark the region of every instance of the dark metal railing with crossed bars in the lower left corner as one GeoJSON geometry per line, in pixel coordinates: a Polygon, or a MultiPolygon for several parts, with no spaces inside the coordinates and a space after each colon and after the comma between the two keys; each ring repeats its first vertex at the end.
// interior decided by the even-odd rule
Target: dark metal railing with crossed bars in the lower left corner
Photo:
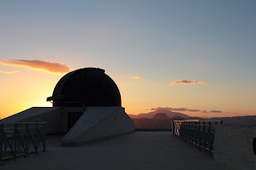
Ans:
{"type": "Polygon", "coordinates": [[[38,148],[46,151],[46,123],[1,123],[0,124],[0,163],[8,158],[28,156],[38,152],[38,148]]]}

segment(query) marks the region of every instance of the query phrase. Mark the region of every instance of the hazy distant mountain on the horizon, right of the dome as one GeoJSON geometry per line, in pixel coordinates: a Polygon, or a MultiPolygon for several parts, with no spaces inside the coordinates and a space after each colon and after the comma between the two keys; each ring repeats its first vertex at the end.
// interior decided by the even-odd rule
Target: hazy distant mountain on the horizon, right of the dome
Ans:
{"type": "Polygon", "coordinates": [[[152,119],[158,113],[165,113],[167,115],[167,117],[169,117],[170,119],[172,117],[183,117],[185,119],[191,119],[191,117],[186,115],[186,114],[172,112],[172,111],[167,110],[167,109],[159,109],[159,110],[155,110],[155,111],[150,112],[150,113],[140,113],[138,115],[129,114],[129,116],[130,116],[130,118],[133,118],[133,119],[141,119],[141,118],[152,119]]]}

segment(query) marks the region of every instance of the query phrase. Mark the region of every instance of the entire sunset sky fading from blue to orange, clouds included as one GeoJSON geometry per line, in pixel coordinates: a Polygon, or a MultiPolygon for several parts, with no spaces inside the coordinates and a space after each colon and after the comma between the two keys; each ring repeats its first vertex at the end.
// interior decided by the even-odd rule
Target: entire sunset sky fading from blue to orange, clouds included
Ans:
{"type": "Polygon", "coordinates": [[[253,0],[2,0],[0,117],[51,106],[58,80],[84,67],[106,70],[126,113],[256,115],[255,9],[253,0]]]}

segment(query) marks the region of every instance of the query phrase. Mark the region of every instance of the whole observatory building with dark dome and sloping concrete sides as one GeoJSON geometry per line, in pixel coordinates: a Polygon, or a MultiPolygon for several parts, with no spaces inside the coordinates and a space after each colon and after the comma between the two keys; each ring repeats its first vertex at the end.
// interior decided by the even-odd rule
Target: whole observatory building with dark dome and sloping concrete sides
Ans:
{"type": "Polygon", "coordinates": [[[46,121],[47,132],[66,132],[62,145],[80,145],[134,132],[134,121],[122,108],[118,86],[104,69],[77,69],[63,76],[46,101],[3,121],[46,121]]]}

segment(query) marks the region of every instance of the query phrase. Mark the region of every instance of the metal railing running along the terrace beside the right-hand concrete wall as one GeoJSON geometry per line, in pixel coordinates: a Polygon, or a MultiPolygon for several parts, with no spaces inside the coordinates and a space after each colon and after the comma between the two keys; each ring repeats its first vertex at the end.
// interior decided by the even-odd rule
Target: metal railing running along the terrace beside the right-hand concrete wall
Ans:
{"type": "Polygon", "coordinates": [[[173,135],[213,153],[216,125],[222,125],[222,121],[173,121],[173,135]]]}

